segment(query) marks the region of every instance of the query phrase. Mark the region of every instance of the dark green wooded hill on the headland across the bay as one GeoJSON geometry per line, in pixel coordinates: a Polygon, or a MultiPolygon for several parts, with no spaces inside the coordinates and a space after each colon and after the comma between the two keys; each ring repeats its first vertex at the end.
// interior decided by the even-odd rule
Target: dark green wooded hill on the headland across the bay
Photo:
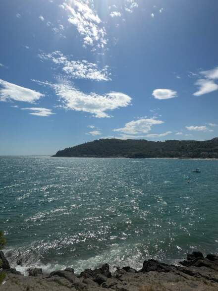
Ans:
{"type": "Polygon", "coordinates": [[[212,140],[99,139],[64,150],[53,157],[218,158],[218,137],[212,140]]]}

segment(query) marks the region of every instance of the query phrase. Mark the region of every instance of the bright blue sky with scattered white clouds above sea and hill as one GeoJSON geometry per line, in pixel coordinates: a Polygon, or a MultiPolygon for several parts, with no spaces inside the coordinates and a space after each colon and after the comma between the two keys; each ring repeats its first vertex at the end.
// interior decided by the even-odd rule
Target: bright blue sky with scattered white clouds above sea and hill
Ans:
{"type": "Polygon", "coordinates": [[[1,0],[0,155],[218,137],[217,0],[1,0]]]}

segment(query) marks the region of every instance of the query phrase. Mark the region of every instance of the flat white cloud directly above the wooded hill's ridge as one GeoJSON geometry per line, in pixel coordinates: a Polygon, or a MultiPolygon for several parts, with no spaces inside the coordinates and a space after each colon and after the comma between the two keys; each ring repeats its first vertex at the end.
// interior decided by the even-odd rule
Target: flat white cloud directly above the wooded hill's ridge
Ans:
{"type": "Polygon", "coordinates": [[[144,118],[139,120],[132,120],[127,122],[124,127],[113,129],[113,131],[122,132],[126,134],[140,134],[147,133],[151,130],[151,127],[156,124],[164,123],[162,120],[144,118]]]}

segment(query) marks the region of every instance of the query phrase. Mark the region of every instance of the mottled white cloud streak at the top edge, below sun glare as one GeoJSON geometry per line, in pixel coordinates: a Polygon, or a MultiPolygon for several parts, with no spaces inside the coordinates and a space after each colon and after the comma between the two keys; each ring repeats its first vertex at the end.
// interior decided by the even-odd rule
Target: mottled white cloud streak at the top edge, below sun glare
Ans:
{"type": "Polygon", "coordinates": [[[91,9],[86,0],[71,0],[69,4],[63,3],[64,8],[70,12],[68,22],[75,25],[77,31],[83,36],[84,45],[104,48],[107,44],[105,27],[101,27],[101,19],[91,9]]]}

